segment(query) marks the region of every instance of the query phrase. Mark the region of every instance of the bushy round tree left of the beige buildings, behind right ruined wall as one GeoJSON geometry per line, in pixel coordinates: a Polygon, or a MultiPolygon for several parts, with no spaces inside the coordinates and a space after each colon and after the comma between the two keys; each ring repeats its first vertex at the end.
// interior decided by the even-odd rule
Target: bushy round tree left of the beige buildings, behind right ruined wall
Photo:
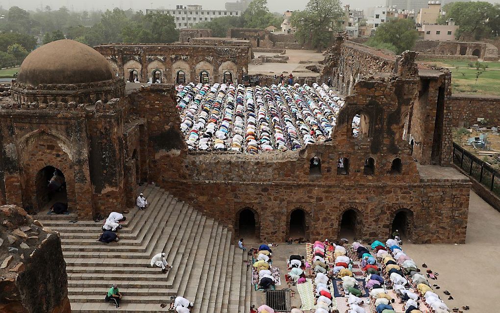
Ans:
{"type": "Polygon", "coordinates": [[[390,20],[377,27],[373,38],[367,42],[369,46],[390,44],[395,47],[394,53],[400,54],[405,50],[413,49],[418,39],[413,20],[390,20]]]}

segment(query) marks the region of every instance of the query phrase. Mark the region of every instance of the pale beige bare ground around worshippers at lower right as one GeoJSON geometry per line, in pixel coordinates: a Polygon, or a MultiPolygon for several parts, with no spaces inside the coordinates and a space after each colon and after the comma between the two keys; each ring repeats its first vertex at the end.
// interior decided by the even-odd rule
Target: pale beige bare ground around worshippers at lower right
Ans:
{"type": "MultiPolygon", "coordinates": [[[[469,305],[464,312],[485,313],[497,312],[495,308],[500,290],[500,271],[496,262],[500,260],[500,213],[488,205],[474,192],[470,192],[468,228],[466,244],[412,244],[404,242],[402,248],[419,265],[426,263],[428,268],[438,272],[436,290],[450,307],[469,305]],[[442,291],[448,290],[453,300],[447,300],[442,291]]],[[[257,242],[247,242],[247,247],[258,247],[257,242]]],[[[273,247],[273,266],[281,273],[280,286],[288,286],[284,280],[286,273],[286,258],[290,254],[305,254],[305,245],[279,244],[273,247]]],[[[292,306],[300,307],[300,296],[296,286],[295,296],[291,298],[292,306]]],[[[265,303],[265,293],[252,291],[252,303],[257,307],[265,303]]],[[[345,313],[345,312],[340,312],[345,313]]]]}

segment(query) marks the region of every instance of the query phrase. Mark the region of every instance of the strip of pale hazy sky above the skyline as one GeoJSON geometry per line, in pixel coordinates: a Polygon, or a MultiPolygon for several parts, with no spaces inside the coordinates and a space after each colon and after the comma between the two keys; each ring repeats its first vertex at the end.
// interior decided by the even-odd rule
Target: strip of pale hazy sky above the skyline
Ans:
{"type": "MultiPolygon", "coordinates": [[[[230,0],[234,1],[234,0],[230,0]]],[[[3,8],[10,6],[18,6],[23,9],[36,9],[44,6],[50,6],[52,9],[66,6],[69,9],[81,11],[92,9],[111,9],[114,7],[121,7],[122,9],[132,8],[134,10],[145,10],[148,8],[165,9],[175,8],[175,5],[189,5],[197,4],[202,5],[203,9],[223,10],[226,0],[0,0],[0,5],[3,8]],[[152,3],[152,5],[151,5],[152,3]]],[[[500,0],[489,0],[491,3],[499,3],[500,0]]],[[[267,0],[269,10],[271,12],[284,12],[286,10],[300,10],[303,9],[307,0],[267,0]],[[286,6],[283,4],[286,3],[286,6]]],[[[343,0],[343,4],[349,4],[351,8],[366,9],[384,5],[385,0],[343,0]]]]}

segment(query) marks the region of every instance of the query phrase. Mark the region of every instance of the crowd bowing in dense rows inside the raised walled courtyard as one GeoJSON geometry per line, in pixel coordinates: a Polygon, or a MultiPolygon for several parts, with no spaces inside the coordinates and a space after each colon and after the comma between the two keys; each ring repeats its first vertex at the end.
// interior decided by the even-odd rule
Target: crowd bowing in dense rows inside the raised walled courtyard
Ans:
{"type": "Polygon", "coordinates": [[[331,140],[344,101],[326,84],[254,88],[232,84],[177,87],[177,109],[189,150],[297,150],[331,140]]]}

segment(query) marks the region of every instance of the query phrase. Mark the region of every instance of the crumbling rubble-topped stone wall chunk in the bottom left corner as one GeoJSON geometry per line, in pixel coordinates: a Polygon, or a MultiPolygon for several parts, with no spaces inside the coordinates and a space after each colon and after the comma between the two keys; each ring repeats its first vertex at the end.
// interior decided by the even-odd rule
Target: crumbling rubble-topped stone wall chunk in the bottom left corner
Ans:
{"type": "Polygon", "coordinates": [[[15,205],[0,207],[0,311],[70,313],[56,232],[15,205]]]}

